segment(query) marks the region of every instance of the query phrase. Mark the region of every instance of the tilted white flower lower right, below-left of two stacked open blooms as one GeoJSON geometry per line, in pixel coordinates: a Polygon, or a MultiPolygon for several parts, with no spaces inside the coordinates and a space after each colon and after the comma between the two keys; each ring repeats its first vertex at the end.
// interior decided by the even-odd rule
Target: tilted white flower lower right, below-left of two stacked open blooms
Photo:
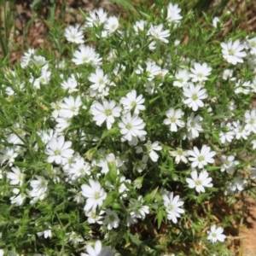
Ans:
{"type": "Polygon", "coordinates": [[[164,206],[166,207],[167,218],[172,220],[173,223],[177,223],[177,218],[180,218],[180,213],[185,212],[180,208],[183,206],[184,202],[179,200],[179,195],[173,197],[173,192],[169,195],[164,194],[162,197],[164,200],[164,206]]]}

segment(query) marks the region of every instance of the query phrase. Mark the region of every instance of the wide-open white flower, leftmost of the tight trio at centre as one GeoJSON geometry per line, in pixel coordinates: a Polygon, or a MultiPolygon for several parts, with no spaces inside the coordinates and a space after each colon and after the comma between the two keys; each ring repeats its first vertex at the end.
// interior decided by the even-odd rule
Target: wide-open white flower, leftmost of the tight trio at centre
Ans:
{"type": "Polygon", "coordinates": [[[106,121],[108,130],[112,128],[114,118],[120,116],[121,110],[122,108],[115,107],[115,101],[108,102],[105,99],[102,99],[102,104],[100,102],[93,102],[90,107],[96,125],[101,126],[106,121]]]}

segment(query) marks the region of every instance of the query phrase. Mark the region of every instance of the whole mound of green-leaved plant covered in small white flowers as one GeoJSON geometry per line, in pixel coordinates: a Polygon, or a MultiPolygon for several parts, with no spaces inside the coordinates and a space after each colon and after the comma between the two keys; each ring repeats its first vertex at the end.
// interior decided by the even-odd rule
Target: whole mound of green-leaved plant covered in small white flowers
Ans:
{"type": "Polygon", "coordinates": [[[82,14],[2,60],[0,253],[230,255],[223,206],[255,187],[256,38],[177,3],[82,14]]]}

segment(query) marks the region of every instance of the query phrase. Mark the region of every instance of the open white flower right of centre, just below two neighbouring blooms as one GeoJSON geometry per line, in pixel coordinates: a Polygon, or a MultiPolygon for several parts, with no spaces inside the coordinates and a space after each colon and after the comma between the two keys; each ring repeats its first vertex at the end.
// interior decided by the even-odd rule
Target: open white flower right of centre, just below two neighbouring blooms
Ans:
{"type": "Polygon", "coordinates": [[[183,87],[183,96],[187,97],[183,102],[196,111],[204,106],[204,102],[201,100],[207,98],[207,90],[202,89],[200,84],[195,86],[193,83],[189,83],[189,87],[183,87]]]}

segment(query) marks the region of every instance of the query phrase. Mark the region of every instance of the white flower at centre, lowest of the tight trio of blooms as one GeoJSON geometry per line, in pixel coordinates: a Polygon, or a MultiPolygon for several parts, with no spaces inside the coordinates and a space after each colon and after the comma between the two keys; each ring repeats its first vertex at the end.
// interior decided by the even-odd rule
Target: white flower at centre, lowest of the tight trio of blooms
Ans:
{"type": "Polygon", "coordinates": [[[131,142],[132,137],[144,137],[147,134],[147,131],[143,130],[146,124],[137,114],[131,116],[131,112],[128,112],[121,119],[122,122],[119,122],[119,128],[125,140],[131,142]]]}

